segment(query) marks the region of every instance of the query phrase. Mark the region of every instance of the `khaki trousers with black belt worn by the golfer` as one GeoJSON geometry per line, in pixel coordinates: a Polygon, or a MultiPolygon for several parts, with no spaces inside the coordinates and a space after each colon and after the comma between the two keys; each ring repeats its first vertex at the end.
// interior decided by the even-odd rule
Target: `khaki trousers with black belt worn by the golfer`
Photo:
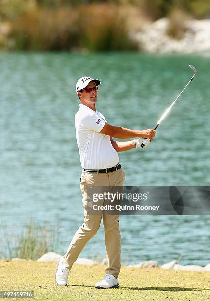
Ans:
{"type": "MultiPolygon", "coordinates": [[[[106,274],[118,277],[120,273],[121,238],[119,231],[119,215],[89,215],[87,211],[88,186],[123,186],[125,172],[118,169],[111,173],[87,173],[82,171],[80,187],[84,208],[84,222],[75,233],[66,254],[63,256],[63,264],[71,269],[86,243],[96,234],[103,219],[105,230],[105,247],[107,269],[106,274]]],[[[102,204],[103,205],[103,204],[102,204]]]]}

